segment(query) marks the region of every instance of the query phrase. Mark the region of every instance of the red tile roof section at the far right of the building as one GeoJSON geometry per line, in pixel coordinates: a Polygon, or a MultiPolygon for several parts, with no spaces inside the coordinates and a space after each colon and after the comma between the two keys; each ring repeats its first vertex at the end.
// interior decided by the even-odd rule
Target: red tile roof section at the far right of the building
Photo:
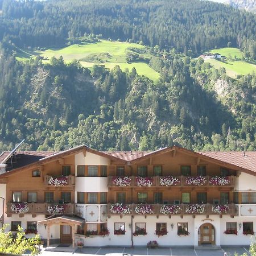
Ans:
{"type": "Polygon", "coordinates": [[[199,152],[201,155],[256,172],[256,151],[245,151],[244,153],[243,151],[199,152]]]}

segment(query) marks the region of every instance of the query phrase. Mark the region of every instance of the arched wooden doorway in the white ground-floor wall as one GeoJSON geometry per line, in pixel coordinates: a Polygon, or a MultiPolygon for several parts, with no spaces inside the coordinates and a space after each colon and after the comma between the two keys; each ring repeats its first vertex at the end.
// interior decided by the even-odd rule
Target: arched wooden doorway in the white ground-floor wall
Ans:
{"type": "Polygon", "coordinates": [[[204,223],[198,229],[198,245],[215,245],[215,229],[210,223],[204,223]]]}

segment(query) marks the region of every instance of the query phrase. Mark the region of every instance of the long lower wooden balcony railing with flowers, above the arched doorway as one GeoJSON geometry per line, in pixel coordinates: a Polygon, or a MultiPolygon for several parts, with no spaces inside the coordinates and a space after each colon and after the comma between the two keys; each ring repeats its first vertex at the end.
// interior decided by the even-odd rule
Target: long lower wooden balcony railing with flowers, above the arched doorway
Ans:
{"type": "Polygon", "coordinates": [[[235,204],[108,204],[108,215],[238,215],[235,204]]]}

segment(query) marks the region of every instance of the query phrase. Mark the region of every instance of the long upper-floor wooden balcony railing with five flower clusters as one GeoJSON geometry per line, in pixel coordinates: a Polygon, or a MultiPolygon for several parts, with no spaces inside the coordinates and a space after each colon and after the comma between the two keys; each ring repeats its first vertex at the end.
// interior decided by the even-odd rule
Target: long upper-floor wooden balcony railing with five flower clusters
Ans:
{"type": "Polygon", "coordinates": [[[204,187],[204,186],[234,186],[234,176],[109,176],[109,187],[204,187]]]}

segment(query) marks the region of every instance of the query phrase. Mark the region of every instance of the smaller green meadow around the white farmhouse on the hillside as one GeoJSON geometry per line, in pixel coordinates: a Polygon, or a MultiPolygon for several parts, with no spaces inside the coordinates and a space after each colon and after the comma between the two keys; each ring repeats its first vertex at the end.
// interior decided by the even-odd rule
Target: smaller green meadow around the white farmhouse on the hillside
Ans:
{"type": "Polygon", "coordinates": [[[232,57],[232,60],[226,59],[225,62],[216,59],[205,60],[205,62],[210,63],[214,68],[219,69],[221,67],[226,69],[226,75],[235,78],[237,75],[247,75],[249,73],[256,73],[256,65],[252,63],[248,63],[246,61],[242,61],[243,52],[237,48],[221,48],[221,49],[213,49],[209,51],[212,53],[220,53],[222,56],[228,57],[229,55],[232,57]],[[237,59],[234,59],[234,57],[237,59]]]}

